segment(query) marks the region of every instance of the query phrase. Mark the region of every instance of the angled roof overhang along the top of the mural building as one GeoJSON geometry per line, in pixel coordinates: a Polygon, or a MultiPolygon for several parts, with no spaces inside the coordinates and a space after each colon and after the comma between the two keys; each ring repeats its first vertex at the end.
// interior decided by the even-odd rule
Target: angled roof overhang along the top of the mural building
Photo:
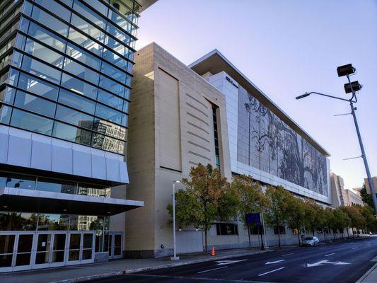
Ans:
{"type": "Polygon", "coordinates": [[[289,115],[287,115],[278,105],[276,105],[265,93],[263,93],[255,84],[250,81],[241,71],[239,71],[226,57],[219,52],[219,50],[212,50],[202,58],[197,59],[188,66],[197,74],[202,76],[208,71],[211,74],[218,74],[221,71],[225,71],[226,74],[236,80],[240,86],[245,88],[248,93],[251,93],[257,100],[260,100],[269,110],[274,112],[277,117],[282,119],[287,125],[294,129],[298,134],[306,139],[312,146],[315,147],[324,156],[330,156],[330,154],[318,144],[313,137],[305,132],[289,115]]]}

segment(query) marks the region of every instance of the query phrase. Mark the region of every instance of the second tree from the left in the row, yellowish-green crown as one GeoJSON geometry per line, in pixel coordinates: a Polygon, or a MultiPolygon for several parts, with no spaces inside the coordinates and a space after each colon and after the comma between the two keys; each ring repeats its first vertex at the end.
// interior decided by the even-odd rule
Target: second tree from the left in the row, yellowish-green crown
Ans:
{"type": "Polygon", "coordinates": [[[242,221],[245,229],[248,229],[249,247],[251,248],[251,224],[246,223],[246,214],[265,211],[269,207],[269,200],[263,194],[260,183],[255,182],[251,176],[234,176],[231,187],[238,194],[238,219],[242,221]]]}

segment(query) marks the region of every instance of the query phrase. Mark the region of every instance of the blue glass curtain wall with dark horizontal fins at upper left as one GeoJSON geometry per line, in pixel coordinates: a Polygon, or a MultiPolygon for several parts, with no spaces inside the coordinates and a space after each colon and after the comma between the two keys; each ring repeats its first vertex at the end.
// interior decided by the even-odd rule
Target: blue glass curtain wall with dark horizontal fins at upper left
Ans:
{"type": "Polygon", "coordinates": [[[0,123],[124,154],[138,9],[129,0],[14,8],[17,33],[0,47],[0,123]]]}

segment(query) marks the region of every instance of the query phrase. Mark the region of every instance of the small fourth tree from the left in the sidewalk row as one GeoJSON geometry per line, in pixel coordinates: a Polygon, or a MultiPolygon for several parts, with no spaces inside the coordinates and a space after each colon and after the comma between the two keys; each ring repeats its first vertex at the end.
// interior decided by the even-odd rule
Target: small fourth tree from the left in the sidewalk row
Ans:
{"type": "Polygon", "coordinates": [[[297,231],[298,246],[301,245],[301,229],[305,224],[305,207],[303,200],[291,194],[287,200],[289,206],[288,226],[297,231]]]}

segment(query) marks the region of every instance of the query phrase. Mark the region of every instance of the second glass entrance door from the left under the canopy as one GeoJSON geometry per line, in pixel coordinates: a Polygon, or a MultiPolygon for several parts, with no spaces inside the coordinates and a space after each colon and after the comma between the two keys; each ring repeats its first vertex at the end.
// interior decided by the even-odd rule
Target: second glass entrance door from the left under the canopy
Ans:
{"type": "Polygon", "coordinates": [[[13,257],[13,270],[30,270],[32,262],[34,233],[18,233],[16,256],[13,257]]]}

